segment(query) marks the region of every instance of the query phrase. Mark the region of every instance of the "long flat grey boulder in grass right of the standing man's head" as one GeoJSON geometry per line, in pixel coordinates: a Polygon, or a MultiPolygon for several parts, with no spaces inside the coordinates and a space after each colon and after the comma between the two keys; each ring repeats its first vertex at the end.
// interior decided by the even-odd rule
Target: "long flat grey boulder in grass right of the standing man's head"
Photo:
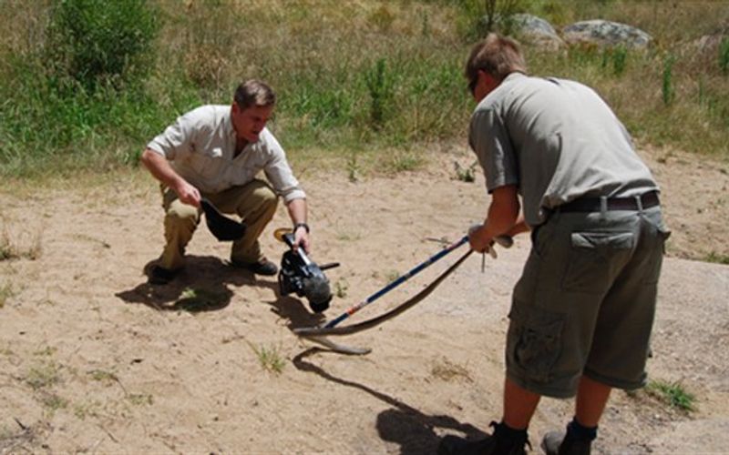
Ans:
{"type": "Polygon", "coordinates": [[[569,45],[589,44],[601,47],[625,45],[644,49],[651,45],[652,36],[641,29],[618,22],[595,19],[577,22],[562,29],[562,37],[569,45]]]}

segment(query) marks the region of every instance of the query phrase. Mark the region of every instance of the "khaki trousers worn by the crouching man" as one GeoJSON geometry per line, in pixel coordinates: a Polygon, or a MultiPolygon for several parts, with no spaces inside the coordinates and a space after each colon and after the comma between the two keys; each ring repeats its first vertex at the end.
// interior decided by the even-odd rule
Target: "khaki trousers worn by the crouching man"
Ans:
{"type": "MultiPolygon", "coordinates": [[[[159,266],[170,270],[185,264],[185,248],[195,228],[200,224],[202,210],[180,202],[169,187],[162,189],[162,207],[165,210],[166,245],[159,266]]],[[[252,263],[263,258],[258,238],[263,228],[276,213],[278,197],[266,182],[253,179],[241,187],[231,187],[220,193],[203,193],[222,213],[241,217],[246,225],[245,236],[236,240],[231,248],[231,260],[252,263]]]]}

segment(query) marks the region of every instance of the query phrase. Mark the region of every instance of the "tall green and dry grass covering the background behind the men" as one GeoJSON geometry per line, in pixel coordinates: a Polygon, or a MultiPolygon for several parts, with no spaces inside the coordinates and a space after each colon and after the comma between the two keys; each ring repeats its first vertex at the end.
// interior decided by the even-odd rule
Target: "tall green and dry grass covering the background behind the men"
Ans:
{"type": "MultiPolygon", "coordinates": [[[[245,8],[124,0],[92,8],[86,22],[71,4],[0,4],[0,177],[137,166],[147,142],[176,116],[203,103],[229,104],[233,88],[250,77],[276,90],[271,127],[293,160],[342,159],[353,181],[369,168],[417,168],[418,144],[466,136],[474,105],[462,67],[484,32],[483,0],[271,0],[245,8]],[[153,15],[140,9],[147,6],[153,15]],[[67,39],[74,34],[93,36],[103,52],[67,39]],[[394,149],[402,154],[392,158],[394,149]],[[360,150],[385,166],[369,166],[354,155],[360,150]]],[[[647,143],[729,157],[729,40],[705,52],[693,45],[729,20],[722,2],[499,5],[558,29],[601,17],[646,30],[654,45],[645,53],[526,47],[530,71],[594,86],[647,143]],[[676,57],[666,65],[666,56],[676,57]]]]}

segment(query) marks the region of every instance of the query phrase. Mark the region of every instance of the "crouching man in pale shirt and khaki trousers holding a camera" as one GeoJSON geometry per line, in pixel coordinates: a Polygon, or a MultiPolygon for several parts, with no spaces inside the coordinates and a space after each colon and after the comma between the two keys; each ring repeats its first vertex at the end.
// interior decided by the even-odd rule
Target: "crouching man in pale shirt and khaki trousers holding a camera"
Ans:
{"type": "Polygon", "coordinates": [[[184,266],[185,247],[200,222],[202,197],[246,224],[245,235],[232,244],[232,266],[276,274],[258,238],[279,196],[292,219],[296,247],[309,251],[306,196],[282,147],[265,127],[275,103],[270,86],[249,80],[236,89],[232,106],[200,106],[149,142],[141,161],[161,182],[167,240],[149,271],[150,283],[168,283],[184,266]],[[270,184],[256,178],[260,171],[270,184]]]}

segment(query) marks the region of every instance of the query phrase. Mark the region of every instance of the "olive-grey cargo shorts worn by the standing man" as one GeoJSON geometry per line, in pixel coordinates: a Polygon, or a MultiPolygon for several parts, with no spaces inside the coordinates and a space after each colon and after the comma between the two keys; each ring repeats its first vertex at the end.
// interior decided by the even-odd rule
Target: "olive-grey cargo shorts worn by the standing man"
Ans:
{"type": "Polygon", "coordinates": [[[645,385],[664,241],[661,207],[553,213],[509,311],[507,376],[554,398],[583,374],[618,389],[645,385]]]}

